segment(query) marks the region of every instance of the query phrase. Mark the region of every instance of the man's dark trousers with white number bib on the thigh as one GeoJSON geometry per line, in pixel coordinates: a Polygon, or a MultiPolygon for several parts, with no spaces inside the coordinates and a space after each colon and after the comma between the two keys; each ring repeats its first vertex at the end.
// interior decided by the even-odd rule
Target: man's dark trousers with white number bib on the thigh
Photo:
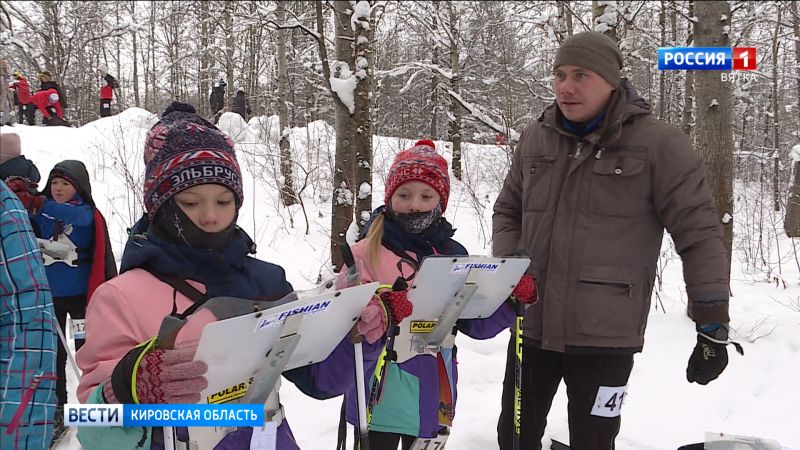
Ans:
{"type": "MultiPolygon", "coordinates": [[[[513,418],[514,377],[511,362],[510,389],[505,389],[503,399],[510,391],[510,402],[503,403],[505,414],[513,418]]],[[[601,386],[620,387],[628,384],[633,369],[633,355],[574,354],[541,350],[524,345],[522,349],[522,404],[520,446],[539,450],[547,425],[547,414],[553,403],[561,380],[567,386],[568,425],[572,450],[613,450],[619,433],[621,419],[593,414],[601,386]]],[[[507,377],[508,378],[508,377],[507,377]]],[[[604,402],[601,407],[618,411],[622,400],[604,402]]],[[[501,431],[501,423],[498,431],[501,431]]],[[[513,420],[513,419],[512,419],[513,420]]],[[[511,425],[505,432],[508,438],[500,439],[501,450],[510,450],[511,425]]]]}

